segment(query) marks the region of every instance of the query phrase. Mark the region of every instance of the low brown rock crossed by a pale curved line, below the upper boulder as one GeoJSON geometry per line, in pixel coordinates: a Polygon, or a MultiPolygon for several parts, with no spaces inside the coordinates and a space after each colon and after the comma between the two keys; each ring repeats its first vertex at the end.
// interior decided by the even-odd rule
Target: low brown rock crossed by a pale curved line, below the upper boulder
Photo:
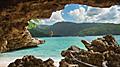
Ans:
{"type": "Polygon", "coordinates": [[[73,51],[66,50],[65,52],[66,53],[62,55],[63,57],[65,57],[65,59],[63,59],[60,62],[60,67],[62,67],[63,65],[69,65],[69,64],[78,64],[79,67],[87,67],[87,65],[82,64],[77,60],[92,64],[92,65],[102,66],[101,64],[105,59],[104,55],[99,52],[92,52],[92,51],[85,51],[85,50],[79,50],[79,52],[78,51],[75,52],[74,50],[73,51]],[[77,60],[75,60],[74,58],[76,58],[77,60]]]}

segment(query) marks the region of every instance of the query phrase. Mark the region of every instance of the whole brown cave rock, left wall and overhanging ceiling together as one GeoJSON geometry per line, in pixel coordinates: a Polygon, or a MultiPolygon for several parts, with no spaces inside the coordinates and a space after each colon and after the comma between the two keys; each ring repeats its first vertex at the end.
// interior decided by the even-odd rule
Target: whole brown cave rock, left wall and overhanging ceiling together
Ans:
{"type": "Polygon", "coordinates": [[[30,46],[32,37],[26,29],[27,21],[33,18],[49,18],[53,11],[63,9],[69,3],[109,7],[120,4],[120,1],[0,0],[0,52],[30,46]]]}

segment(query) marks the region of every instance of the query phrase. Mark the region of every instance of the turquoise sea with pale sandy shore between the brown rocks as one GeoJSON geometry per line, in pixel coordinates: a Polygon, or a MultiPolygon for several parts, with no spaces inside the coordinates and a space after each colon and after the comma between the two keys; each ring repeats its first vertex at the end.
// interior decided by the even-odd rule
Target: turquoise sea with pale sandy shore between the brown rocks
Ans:
{"type": "MultiPolygon", "coordinates": [[[[10,62],[14,61],[16,58],[22,58],[25,55],[34,55],[43,60],[52,58],[55,62],[60,61],[61,51],[67,49],[72,45],[76,45],[82,49],[86,49],[81,43],[81,40],[94,40],[101,36],[85,36],[85,37],[44,37],[40,38],[45,40],[45,44],[39,45],[36,48],[18,50],[13,52],[7,52],[0,54],[0,67],[7,66],[10,62]]],[[[118,43],[120,44],[120,35],[114,36],[118,43]]],[[[57,64],[57,63],[56,63],[57,64]]]]}

